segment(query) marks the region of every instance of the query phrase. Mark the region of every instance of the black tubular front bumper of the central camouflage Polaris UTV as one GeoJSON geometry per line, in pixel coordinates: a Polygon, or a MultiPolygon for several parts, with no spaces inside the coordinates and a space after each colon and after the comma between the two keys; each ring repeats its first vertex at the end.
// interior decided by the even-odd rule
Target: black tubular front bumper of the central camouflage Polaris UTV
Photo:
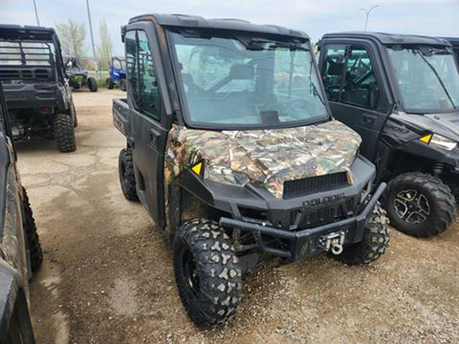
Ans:
{"type": "Polygon", "coordinates": [[[380,183],[371,199],[360,214],[334,223],[325,224],[315,228],[298,231],[282,230],[274,227],[264,226],[243,220],[221,218],[220,226],[236,228],[245,232],[253,232],[260,248],[270,254],[286,257],[291,260],[307,258],[319,252],[326,251],[324,238],[333,233],[344,233],[344,245],[350,245],[362,241],[365,226],[379,197],[385,191],[386,183],[380,183]],[[264,244],[263,236],[275,239],[283,239],[288,242],[290,249],[279,249],[264,244]]]}

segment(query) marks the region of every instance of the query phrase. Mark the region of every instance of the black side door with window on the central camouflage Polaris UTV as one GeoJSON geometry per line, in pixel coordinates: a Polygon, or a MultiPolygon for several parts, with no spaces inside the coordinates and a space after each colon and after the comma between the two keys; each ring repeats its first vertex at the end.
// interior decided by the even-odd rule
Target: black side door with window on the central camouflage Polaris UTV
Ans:
{"type": "Polygon", "coordinates": [[[125,34],[128,101],[137,194],[156,224],[164,227],[164,151],[167,125],[158,80],[156,37],[146,24],[125,34]],[[145,30],[144,30],[145,29],[145,30]],[[152,54],[153,52],[153,54],[152,54]]]}

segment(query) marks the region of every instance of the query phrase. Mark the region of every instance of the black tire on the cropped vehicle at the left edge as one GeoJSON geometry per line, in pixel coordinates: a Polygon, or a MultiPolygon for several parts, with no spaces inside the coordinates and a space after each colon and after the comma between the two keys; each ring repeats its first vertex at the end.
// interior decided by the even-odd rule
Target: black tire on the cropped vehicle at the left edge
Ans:
{"type": "Polygon", "coordinates": [[[29,246],[32,274],[35,274],[43,261],[43,251],[41,250],[40,238],[38,237],[37,226],[35,225],[35,219],[30,206],[29,197],[27,196],[27,191],[25,191],[24,187],[22,187],[22,195],[22,204],[24,207],[24,231],[27,236],[29,246]]]}

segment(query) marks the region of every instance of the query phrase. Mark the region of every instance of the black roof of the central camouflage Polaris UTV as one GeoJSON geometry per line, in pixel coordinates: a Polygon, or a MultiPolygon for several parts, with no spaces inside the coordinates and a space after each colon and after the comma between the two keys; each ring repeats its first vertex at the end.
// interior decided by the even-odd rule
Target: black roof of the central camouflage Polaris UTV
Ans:
{"type": "Polygon", "coordinates": [[[166,27],[237,30],[309,39],[309,36],[302,31],[295,31],[277,25],[258,25],[241,19],[205,19],[200,16],[185,14],[143,14],[130,19],[129,23],[152,19],[151,17],[154,17],[158,24],[166,27]]]}

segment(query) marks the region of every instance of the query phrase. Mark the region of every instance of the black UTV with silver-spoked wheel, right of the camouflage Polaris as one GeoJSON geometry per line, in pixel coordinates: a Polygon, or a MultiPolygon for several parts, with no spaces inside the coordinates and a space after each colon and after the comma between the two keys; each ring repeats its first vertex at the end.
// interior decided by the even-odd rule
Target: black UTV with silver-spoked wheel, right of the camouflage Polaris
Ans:
{"type": "Polygon", "coordinates": [[[336,119],[362,136],[361,153],[389,182],[384,205],[395,228],[444,231],[459,195],[459,71],[439,38],[326,34],[319,69],[336,119]]]}

